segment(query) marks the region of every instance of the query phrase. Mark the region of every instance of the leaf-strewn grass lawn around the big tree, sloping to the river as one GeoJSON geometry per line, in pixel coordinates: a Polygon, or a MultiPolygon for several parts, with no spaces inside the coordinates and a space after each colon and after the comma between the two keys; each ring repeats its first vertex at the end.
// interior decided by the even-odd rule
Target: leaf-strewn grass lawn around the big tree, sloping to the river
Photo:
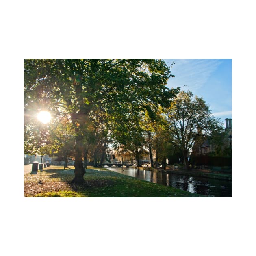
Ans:
{"type": "Polygon", "coordinates": [[[71,184],[74,166],[50,166],[24,174],[24,197],[206,197],[104,168],[86,169],[83,185],[71,184]]]}

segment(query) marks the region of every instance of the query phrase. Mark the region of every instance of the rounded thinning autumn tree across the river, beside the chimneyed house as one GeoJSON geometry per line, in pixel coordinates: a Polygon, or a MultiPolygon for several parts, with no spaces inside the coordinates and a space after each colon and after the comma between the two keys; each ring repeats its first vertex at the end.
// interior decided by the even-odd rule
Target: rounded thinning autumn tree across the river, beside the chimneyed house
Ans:
{"type": "Polygon", "coordinates": [[[221,121],[212,115],[204,98],[193,98],[190,91],[180,91],[169,108],[165,108],[165,113],[173,137],[172,143],[182,151],[186,169],[189,170],[189,149],[197,138],[221,132],[221,121]]]}

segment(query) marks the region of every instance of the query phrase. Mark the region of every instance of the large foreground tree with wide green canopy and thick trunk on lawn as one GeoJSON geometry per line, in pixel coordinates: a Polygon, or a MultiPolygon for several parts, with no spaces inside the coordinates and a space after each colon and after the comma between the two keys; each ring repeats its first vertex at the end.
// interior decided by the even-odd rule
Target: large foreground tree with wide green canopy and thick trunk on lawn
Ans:
{"type": "Polygon", "coordinates": [[[74,183],[82,183],[83,141],[89,117],[108,120],[139,115],[148,104],[166,104],[176,93],[165,87],[172,76],[156,59],[25,59],[25,113],[31,105],[69,115],[75,130],[74,183]]]}

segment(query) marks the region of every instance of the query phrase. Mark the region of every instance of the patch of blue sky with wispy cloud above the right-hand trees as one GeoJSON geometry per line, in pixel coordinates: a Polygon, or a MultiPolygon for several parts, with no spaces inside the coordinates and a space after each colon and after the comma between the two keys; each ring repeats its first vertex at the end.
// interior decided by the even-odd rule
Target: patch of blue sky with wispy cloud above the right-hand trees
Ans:
{"type": "Polygon", "coordinates": [[[182,87],[203,97],[215,117],[232,118],[232,59],[164,59],[174,61],[167,87],[182,87]]]}

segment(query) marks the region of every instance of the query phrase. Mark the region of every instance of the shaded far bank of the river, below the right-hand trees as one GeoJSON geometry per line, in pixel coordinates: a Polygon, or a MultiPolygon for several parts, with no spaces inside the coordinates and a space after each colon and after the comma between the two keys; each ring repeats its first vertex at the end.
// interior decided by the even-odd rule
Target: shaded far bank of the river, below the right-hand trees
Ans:
{"type": "Polygon", "coordinates": [[[209,170],[184,170],[184,169],[162,169],[162,168],[153,168],[153,167],[135,167],[139,169],[146,169],[149,171],[162,171],[170,174],[180,174],[180,175],[189,175],[193,177],[204,177],[204,178],[213,178],[218,180],[228,180],[232,181],[232,174],[221,173],[217,171],[209,170]]]}

